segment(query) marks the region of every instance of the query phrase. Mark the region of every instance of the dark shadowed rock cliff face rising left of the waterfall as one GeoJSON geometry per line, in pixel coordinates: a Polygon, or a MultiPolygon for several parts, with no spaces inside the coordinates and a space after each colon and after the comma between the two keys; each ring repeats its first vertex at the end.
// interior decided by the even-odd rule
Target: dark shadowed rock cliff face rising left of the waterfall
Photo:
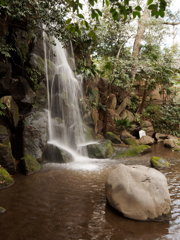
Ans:
{"type": "MultiPolygon", "coordinates": [[[[42,33],[0,22],[0,39],[14,49],[0,55],[0,165],[10,174],[26,154],[41,160],[47,143],[47,89],[42,33]],[[3,104],[3,105],[2,105],[3,104]]],[[[53,63],[48,59],[49,72],[53,63]]]]}

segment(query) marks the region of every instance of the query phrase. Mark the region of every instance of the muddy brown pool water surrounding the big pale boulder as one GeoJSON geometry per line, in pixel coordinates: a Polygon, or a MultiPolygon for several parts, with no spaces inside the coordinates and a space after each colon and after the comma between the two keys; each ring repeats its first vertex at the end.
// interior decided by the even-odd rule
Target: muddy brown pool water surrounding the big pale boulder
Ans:
{"type": "Polygon", "coordinates": [[[121,160],[45,164],[40,172],[14,176],[0,191],[0,240],[180,239],[180,153],[155,144],[153,152],[121,160]],[[126,219],[107,203],[105,179],[118,163],[149,166],[152,155],[171,163],[168,179],[172,218],[164,222],[126,219]],[[88,170],[87,170],[88,169],[88,170]]]}

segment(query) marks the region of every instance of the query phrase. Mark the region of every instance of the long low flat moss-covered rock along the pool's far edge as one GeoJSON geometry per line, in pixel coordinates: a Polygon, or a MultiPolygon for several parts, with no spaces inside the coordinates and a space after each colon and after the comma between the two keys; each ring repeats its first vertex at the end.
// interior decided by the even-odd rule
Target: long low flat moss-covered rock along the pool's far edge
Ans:
{"type": "Polygon", "coordinates": [[[119,151],[116,153],[116,155],[113,157],[121,158],[121,157],[136,157],[140,154],[147,153],[151,151],[151,147],[147,145],[139,145],[139,146],[133,146],[130,148],[127,148],[125,151],[119,151]]]}

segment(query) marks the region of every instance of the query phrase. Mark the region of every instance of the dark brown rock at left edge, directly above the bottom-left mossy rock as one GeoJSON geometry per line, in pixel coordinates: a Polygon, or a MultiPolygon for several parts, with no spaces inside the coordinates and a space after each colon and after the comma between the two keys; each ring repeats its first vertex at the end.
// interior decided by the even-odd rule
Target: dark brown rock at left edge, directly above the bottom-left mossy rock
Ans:
{"type": "Polygon", "coordinates": [[[12,155],[10,142],[7,145],[0,143],[0,165],[10,174],[16,172],[16,162],[12,155]]]}

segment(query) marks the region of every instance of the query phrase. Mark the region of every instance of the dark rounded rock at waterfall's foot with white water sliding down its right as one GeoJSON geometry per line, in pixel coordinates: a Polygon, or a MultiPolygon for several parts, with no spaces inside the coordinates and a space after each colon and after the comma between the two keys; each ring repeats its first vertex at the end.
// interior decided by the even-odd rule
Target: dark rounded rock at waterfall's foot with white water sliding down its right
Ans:
{"type": "Polygon", "coordinates": [[[44,162],[68,163],[73,161],[73,156],[52,144],[47,144],[42,155],[44,162]]]}

